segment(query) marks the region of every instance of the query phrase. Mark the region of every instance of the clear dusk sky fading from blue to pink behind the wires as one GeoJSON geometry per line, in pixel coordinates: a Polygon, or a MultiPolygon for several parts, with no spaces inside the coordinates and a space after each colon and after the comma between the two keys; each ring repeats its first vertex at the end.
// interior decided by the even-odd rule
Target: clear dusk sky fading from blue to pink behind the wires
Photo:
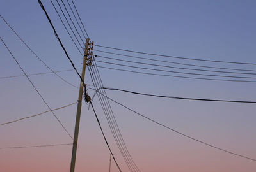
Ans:
{"type": "MultiPolygon", "coordinates": [[[[67,3],[66,0],[63,1],[67,3]]],[[[61,3],[61,1],[59,2],[61,3]]],[[[42,3],[76,68],[81,68],[83,62],[81,54],[77,52],[74,43],[61,24],[51,1],[42,1],[42,3]]],[[[55,0],[53,3],[57,5],[55,0]]],[[[90,39],[97,45],[210,61],[256,63],[255,1],[76,0],[74,3],[90,39]]],[[[0,14],[50,68],[55,71],[72,69],[38,1],[2,0],[0,14]]],[[[1,18],[0,36],[26,73],[49,71],[42,62],[36,59],[35,55],[29,52],[28,48],[13,34],[1,18]]],[[[96,46],[94,48],[95,55],[128,61],[136,60],[120,55],[104,54],[96,50],[137,55],[159,61],[256,70],[255,65],[169,59],[96,46]]],[[[0,43],[0,52],[0,77],[22,75],[22,71],[3,43],[0,43]]],[[[99,61],[116,62],[100,57],[96,58],[99,61]]],[[[143,62],[152,63],[152,61],[143,62]]],[[[97,64],[109,68],[136,70],[100,62],[97,64]]],[[[124,62],[122,64],[134,65],[124,62]]],[[[163,65],[161,62],[154,62],[154,64],[163,65]]],[[[180,67],[176,64],[172,64],[172,66],[180,67]]],[[[184,68],[184,66],[182,67],[184,68]]],[[[191,72],[181,69],[166,70],[191,72]]],[[[136,71],[161,73],[145,69],[136,71]]],[[[165,96],[256,101],[255,82],[195,80],[143,75],[104,68],[99,68],[99,72],[105,87],[165,96]]],[[[177,73],[167,74],[193,76],[177,73]]],[[[213,74],[216,75],[216,73],[213,74]]],[[[74,71],[62,72],[59,75],[68,82],[79,86],[79,78],[74,71]]],[[[221,73],[221,75],[224,74],[221,73]]],[[[232,76],[244,75],[234,74],[232,76]]],[[[203,78],[203,76],[198,77],[203,78]]],[[[29,78],[52,109],[77,101],[78,89],[63,82],[56,75],[35,75],[29,76],[29,78]]],[[[86,70],[85,82],[92,85],[88,70],[86,70]]],[[[1,78],[0,90],[0,124],[48,110],[24,76],[1,78]]],[[[256,159],[255,104],[163,99],[113,90],[106,90],[106,92],[109,97],[125,104],[132,110],[172,129],[216,147],[256,159]]],[[[94,92],[89,90],[88,94],[92,97],[94,92]]],[[[93,99],[93,106],[95,106],[116,161],[122,171],[129,171],[111,135],[97,97],[93,99]]],[[[111,107],[131,157],[141,172],[256,171],[255,161],[227,154],[189,140],[189,138],[145,120],[113,102],[111,102],[111,107]]],[[[60,118],[67,131],[73,134],[76,104],[54,111],[54,113],[60,118]]],[[[0,136],[0,148],[72,143],[72,139],[51,113],[13,124],[1,125],[0,136]]],[[[0,171],[69,171],[71,153],[71,145],[0,149],[0,171]]],[[[83,102],[76,171],[108,170],[108,147],[104,143],[92,107],[88,107],[83,102]]],[[[118,171],[113,161],[111,171],[118,171]]]]}

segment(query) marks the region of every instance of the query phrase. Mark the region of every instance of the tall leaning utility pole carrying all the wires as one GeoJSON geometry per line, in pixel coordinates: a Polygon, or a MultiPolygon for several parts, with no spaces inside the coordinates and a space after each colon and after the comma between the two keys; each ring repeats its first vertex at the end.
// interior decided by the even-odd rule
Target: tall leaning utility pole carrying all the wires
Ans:
{"type": "MultiPolygon", "coordinates": [[[[89,45],[89,38],[86,39],[85,48],[84,48],[84,57],[83,57],[83,69],[81,78],[84,81],[85,75],[85,68],[86,68],[86,61],[88,56],[88,45],[89,45]]],[[[75,170],[75,163],[76,163],[76,149],[77,149],[77,140],[78,140],[78,131],[79,131],[79,124],[80,124],[80,116],[81,116],[81,107],[82,107],[82,98],[83,98],[83,88],[84,83],[83,81],[80,82],[79,88],[79,95],[77,100],[77,111],[76,111],[76,126],[75,126],[75,133],[74,133],[74,140],[73,140],[73,148],[72,148],[72,157],[71,157],[71,165],[70,165],[70,172],[74,172],[75,170]]]]}

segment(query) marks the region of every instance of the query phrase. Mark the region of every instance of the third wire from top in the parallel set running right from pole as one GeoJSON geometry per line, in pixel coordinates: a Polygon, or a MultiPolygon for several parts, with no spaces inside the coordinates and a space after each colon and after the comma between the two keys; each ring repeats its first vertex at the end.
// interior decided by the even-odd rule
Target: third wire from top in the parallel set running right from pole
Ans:
{"type": "Polygon", "coordinates": [[[105,57],[105,56],[101,56],[101,55],[97,55],[97,57],[100,57],[100,58],[103,58],[103,59],[111,59],[111,60],[115,60],[115,61],[131,62],[131,63],[136,63],[136,64],[145,64],[145,65],[149,65],[149,66],[157,66],[157,67],[164,67],[164,68],[186,69],[186,70],[193,70],[193,71],[207,71],[207,72],[216,72],[216,73],[256,75],[256,73],[242,73],[242,72],[232,72],[232,71],[215,71],[215,70],[206,70],[206,69],[180,68],[180,67],[175,67],[175,66],[166,66],[166,65],[152,64],[152,63],[147,63],[147,62],[127,61],[127,60],[123,60],[123,59],[116,59],[116,58],[113,58],[113,57],[105,57]]]}

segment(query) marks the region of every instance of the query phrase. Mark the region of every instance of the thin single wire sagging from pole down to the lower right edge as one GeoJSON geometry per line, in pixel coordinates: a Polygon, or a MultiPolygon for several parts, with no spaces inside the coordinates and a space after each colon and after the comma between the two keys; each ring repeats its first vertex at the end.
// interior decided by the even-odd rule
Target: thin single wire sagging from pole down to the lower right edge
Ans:
{"type": "MultiPolygon", "coordinates": [[[[105,96],[105,95],[102,95],[102,96],[105,96]]],[[[105,97],[107,97],[107,96],[105,96],[105,97]]],[[[208,147],[216,148],[216,149],[221,150],[221,151],[223,151],[223,152],[226,152],[226,153],[228,153],[228,154],[232,154],[232,155],[236,155],[236,156],[239,156],[239,157],[243,157],[243,158],[245,158],[245,159],[250,159],[250,160],[252,160],[252,161],[256,161],[256,159],[253,159],[253,158],[250,158],[250,157],[246,157],[246,156],[244,156],[244,155],[236,154],[236,153],[234,153],[234,152],[230,152],[229,150],[225,150],[225,149],[223,149],[223,148],[216,147],[216,146],[211,145],[211,144],[209,144],[209,143],[206,143],[206,142],[204,142],[204,141],[201,141],[201,140],[198,140],[198,139],[196,139],[196,138],[193,138],[192,136],[189,136],[189,135],[187,135],[187,134],[181,133],[180,131],[177,131],[177,130],[175,130],[175,129],[172,129],[172,128],[170,128],[170,127],[164,125],[164,124],[161,124],[161,123],[157,122],[156,120],[152,120],[151,118],[148,118],[148,117],[146,117],[145,115],[142,115],[141,113],[138,113],[137,111],[132,110],[131,108],[128,108],[128,107],[125,106],[124,104],[118,103],[118,101],[115,101],[115,100],[113,100],[113,99],[111,99],[111,98],[109,98],[109,97],[107,97],[107,98],[110,99],[111,101],[113,101],[113,102],[119,104],[120,106],[123,106],[124,108],[127,108],[127,110],[130,110],[130,111],[136,113],[137,115],[140,115],[141,117],[146,118],[147,120],[150,120],[151,122],[154,122],[154,123],[157,124],[157,125],[160,125],[161,127],[164,127],[164,128],[169,129],[169,130],[171,130],[171,131],[173,131],[173,132],[175,132],[175,133],[177,133],[177,134],[180,134],[180,135],[182,135],[182,136],[185,136],[186,138],[189,138],[189,139],[191,139],[191,140],[194,140],[194,141],[197,141],[197,142],[202,143],[202,144],[204,144],[204,145],[207,145],[208,147]]]]}

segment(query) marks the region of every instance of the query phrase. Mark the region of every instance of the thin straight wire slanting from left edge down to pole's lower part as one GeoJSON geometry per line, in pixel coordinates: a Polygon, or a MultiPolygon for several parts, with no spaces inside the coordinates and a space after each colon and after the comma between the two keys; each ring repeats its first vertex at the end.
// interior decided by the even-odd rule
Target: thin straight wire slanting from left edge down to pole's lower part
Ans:
{"type": "MultiPolygon", "coordinates": [[[[7,45],[4,43],[3,39],[0,37],[1,41],[3,42],[4,46],[6,47],[6,49],[8,50],[8,52],[12,55],[14,61],[18,64],[19,68],[22,70],[22,72],[24,73],[24,75],[26,75],[26,72],[24,71],[24,69],[22,69],[22,67],[20,66],[19,62],[16,60],[16,58],[13,56],[12,52],[9,50],[9,48],[7,47],[7,45]]],[[[37,94],[41,97],[42,101],[44,101],[45,105],[49,108],[49,110],[51,111],[52,115],[54,115],[54,117],[58,120],[59,124],[61,125],[61,127],[63,127],[63,129],[66,131],[66,133],[68,134],[68,136],[70,136],[70,138],[72,138],[72,136],[68,133],[67,129],[64,127],[64,125],[60,122],[59,118],[53,113],[53,111],[51,110],[50,106],[46,103],[44,97],[40,94],[40,92],[36,89],[35,85],[33,84],[33,82],[31,82],[31,80],[29,79],[29,77],[26,75],[26,77],[28,78],[29,82],[31,83],[31,85],[34,87],[34,89],[36,90],[37,94]]],[[[73,138],[72,138],[73,140],[73,138]]]]}

